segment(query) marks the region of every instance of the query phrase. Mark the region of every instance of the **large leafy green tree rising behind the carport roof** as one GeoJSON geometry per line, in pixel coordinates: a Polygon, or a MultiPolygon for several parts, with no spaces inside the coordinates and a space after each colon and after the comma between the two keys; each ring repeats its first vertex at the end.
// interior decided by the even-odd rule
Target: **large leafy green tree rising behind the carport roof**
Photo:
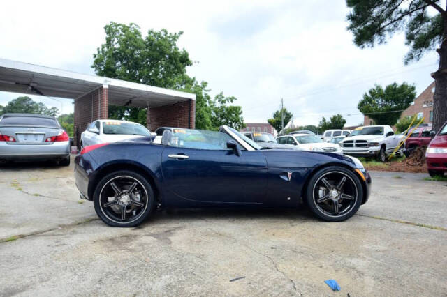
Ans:
{"type": "MultiPolygon", "coordinates": [[[[186,50],[177,47],[182,31],[149,30],[143,37],[138,25],[115,22],[104,29],[105,43],[97,49],[91,66],[97,75],[195,93],[196,128],[216,130],[217,123],[243,124],[241,107],[226,106],[236,98],[218,95],[212,100],[207,82],[199,83],[186,74],[193,61],[186,50]]],[[[109,118],[146,125],[146,110],[110,105],[109,118]]]]}

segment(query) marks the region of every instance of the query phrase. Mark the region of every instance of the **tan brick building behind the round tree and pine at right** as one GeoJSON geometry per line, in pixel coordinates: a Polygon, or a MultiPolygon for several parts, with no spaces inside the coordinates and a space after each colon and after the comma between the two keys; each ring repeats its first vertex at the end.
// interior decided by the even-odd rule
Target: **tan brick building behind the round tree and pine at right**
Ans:
{"type": "MultiPolygon", "coordinates": [[[[434,82],[427,86],[407,109],[402,112],[401,118],[404,116],[418,116],[418,119],[424,118],[424,122],[431,124],[433,122],[433,94],[434,82]]],[[[374,121],[365,116],[363,125],[374,125],[374,121]]]]}

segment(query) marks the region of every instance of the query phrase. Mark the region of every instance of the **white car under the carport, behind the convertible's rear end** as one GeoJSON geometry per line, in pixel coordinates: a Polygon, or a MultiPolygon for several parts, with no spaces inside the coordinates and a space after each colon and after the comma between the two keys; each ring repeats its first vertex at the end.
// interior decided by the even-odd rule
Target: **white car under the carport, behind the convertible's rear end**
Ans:
{"type": "Polygon", "coordinates": [[[129,121],[97,120],[81,134],[81,148],[106,142],[119,142],[125,139],[151,137],[144,125],[129,121]]]}

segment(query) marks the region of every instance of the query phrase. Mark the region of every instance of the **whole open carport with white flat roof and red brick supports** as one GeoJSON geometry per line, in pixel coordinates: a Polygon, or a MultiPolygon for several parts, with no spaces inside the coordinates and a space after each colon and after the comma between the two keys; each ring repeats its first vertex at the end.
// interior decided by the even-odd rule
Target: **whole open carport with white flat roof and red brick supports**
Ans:
{"type": "Polygon", "coordinates": [[[0,59],[0,91],[74,100],[74,138],[97,119],[108,118],[109,104],[147,110],[147,128],[194,128],[196,95],[120,79],[73,73],[0,59]]]}

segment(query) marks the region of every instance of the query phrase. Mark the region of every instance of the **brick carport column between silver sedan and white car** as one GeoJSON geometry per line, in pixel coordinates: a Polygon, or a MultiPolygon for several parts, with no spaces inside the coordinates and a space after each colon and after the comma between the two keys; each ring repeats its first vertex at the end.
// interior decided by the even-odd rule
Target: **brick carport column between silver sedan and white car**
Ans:
{"type": "Polygon", "coordinates": [[[75,99],[75,119],[73,136],[75,146],[80,148],[81,133],[89,123],[97,119],[108,119],[109,112],[109,86],[102,86],[75,99]]]}

